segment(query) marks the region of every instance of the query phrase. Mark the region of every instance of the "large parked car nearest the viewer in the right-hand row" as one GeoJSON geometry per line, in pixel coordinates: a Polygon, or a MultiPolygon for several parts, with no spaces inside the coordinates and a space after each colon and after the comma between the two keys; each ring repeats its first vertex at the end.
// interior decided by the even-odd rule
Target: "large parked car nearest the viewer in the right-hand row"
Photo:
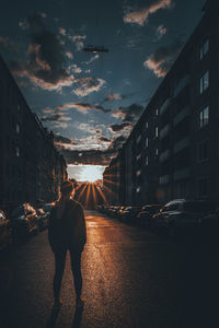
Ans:
{"type": "Polygon", "coordinates": [[[152,227],[166,229],[174,237],[177,232],[197,230],[199,220],[211,210],[211,204],[205,200],[175,199],[152,216],[151,224],[152,227]]]}

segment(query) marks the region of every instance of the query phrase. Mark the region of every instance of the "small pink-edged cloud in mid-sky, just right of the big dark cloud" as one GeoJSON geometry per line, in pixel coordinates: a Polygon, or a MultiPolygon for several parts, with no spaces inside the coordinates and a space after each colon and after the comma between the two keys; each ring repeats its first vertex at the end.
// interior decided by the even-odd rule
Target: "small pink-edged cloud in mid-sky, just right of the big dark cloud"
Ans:
{"type": "Polygon", "coordinates": [[[74,80],[76,83],[78,83],[80,86],[74,89],[73,92],[78,96],[87,96],[92,92],[97,92],[101,90],[101,87],[105,84],[105,81],[102,79],[96,79],[93,77],[88,78],[81,78],[74,80]]]}

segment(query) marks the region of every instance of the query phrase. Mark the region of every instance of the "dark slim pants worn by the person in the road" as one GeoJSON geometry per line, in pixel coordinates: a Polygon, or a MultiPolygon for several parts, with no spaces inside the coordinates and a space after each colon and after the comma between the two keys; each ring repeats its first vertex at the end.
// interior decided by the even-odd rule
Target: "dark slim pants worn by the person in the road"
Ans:
{"type": "MultiPolygon", "coordinates": [[[[71,270],[73,274],[73,282],[77,297],[81,296],[82,290],[82,276],[81,276],[81,253],[69,250],[71,259],[71,270]]],[[[67,249],[55,251],[55,274],[54,274],[54,297],[59,298],[61,280],[65,270],[67,249]]]]}

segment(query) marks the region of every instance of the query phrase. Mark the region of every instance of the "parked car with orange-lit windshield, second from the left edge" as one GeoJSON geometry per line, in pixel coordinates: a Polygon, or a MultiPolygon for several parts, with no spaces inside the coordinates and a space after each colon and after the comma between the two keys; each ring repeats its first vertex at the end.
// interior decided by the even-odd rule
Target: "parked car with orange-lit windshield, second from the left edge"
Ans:
{"type": "Polygon", "coordinates": [[[15,208],[11,214],[12,233],[16,238],[26,237],[38,232],[37,214],[35,209],[27,202],[15,208]]]}

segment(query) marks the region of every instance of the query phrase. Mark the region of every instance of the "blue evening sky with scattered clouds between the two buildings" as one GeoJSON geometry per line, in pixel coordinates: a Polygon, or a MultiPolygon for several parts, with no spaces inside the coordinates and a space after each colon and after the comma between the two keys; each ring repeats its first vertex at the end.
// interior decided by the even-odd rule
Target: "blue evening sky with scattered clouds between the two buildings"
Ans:
{"type": "Polygon", "coordinates": [[[0,54],[68,164],[116,155],[205,2],[1,1],[0,54]],[[83,50],[91,45],[108,52],[83,50]]]}

